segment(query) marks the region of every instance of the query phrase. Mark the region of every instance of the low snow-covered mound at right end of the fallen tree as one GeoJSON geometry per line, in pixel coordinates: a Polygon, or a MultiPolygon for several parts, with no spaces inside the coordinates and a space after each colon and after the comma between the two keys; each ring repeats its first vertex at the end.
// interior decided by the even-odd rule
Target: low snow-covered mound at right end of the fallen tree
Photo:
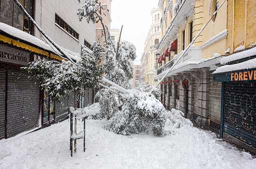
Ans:
{"type": "Polygon", "coordinates": [[[174,108],[171,111],[165,112],[165,126],[164,132],[165,134],[175,134],[177,132],[177,128],[180,127],[192,127],[193,123],[184,117],[184,113],[180,110],[176,110],[174,108]]]}

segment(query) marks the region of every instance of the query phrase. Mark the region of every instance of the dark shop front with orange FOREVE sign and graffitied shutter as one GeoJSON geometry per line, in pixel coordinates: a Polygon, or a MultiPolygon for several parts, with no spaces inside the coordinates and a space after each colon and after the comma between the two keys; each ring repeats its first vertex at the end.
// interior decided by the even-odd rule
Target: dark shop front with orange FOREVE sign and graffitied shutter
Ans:
{"type": "Polygon", "coordinates": [[[216,73],[214,81],[222,82],[220,137],[256,148],[256,68],[216,73]]]}

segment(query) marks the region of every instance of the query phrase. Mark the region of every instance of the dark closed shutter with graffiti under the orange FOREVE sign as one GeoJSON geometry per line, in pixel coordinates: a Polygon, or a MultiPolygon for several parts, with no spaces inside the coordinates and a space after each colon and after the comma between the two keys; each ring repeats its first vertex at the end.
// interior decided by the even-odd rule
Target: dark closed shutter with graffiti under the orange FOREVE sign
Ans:
{"type": "Polygon", "coordinates": [[[256,147],[256,81],[224,82],[223,131],[256,147]]]}

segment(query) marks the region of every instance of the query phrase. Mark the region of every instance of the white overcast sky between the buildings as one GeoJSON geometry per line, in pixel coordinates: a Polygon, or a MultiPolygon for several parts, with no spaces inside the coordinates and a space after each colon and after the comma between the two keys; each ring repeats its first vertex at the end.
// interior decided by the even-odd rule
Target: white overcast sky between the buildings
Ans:
{"type": "Polygon", "coordinates": [[[150,11],[157,7],[159,0],[112,0],[111,28],[119,28],[123,24],[122,40],[133,42],[139,60],[144,51],[152,16],[150,11]]]}

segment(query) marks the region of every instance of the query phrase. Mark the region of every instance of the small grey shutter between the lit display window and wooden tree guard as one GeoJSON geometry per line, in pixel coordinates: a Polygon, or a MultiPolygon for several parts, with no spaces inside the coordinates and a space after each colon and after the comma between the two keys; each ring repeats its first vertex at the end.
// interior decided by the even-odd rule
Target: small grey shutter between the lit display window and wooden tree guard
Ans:
{"type": "Polygon", "coordinates": [[[68,98],[56,102],[55,107],[55,120],[61,121],[67,118],[68,115],[68,98]]]}

